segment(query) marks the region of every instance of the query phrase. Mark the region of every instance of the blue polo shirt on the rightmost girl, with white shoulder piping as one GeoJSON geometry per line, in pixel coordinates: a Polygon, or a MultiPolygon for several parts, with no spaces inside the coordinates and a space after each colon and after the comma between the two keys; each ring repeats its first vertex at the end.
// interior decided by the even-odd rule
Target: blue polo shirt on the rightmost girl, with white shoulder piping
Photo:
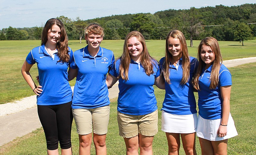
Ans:
{"type": "Polygon", "coordinates": [[[212,72],[212,65],[200,74],[198,85],[198,109],[201,117],[204,119],[220,119],[222,117],[222,98],[220,94],[220,87],[232,85],[231,74],[229,70],[223,65],[220,65],[219,84],[216,89],[209,89],[210,76],[212,72]]]}

